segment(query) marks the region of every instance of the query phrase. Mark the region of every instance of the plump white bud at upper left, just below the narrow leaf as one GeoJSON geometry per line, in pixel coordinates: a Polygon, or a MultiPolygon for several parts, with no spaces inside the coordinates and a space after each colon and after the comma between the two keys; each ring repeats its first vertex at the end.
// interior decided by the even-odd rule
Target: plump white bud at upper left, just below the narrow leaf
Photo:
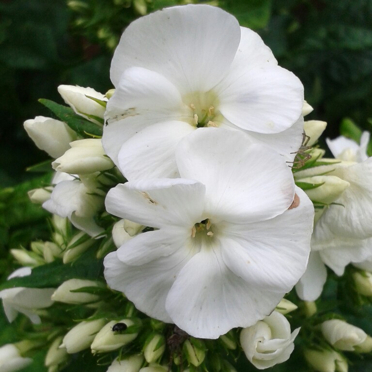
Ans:
{"type": "Polygon", "coordinates": [[[56,158],[70,148],[69,143],[77,139],[77,134],[65,123],[44,116],[26,120],[23,124],[35,145],[56,158]]]}

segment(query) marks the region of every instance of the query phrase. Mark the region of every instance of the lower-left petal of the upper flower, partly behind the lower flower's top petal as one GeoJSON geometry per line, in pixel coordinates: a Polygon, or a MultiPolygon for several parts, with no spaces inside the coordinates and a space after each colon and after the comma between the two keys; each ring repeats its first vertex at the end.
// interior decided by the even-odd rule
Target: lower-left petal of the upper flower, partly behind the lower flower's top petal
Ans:
{"type": "Polygon", "coordinates": [[[178,142],[195,127],[185,122],[163,122],[139,130],[122,146],[119,168],[129,181],[179,177],[175,161],[178,142]]]}

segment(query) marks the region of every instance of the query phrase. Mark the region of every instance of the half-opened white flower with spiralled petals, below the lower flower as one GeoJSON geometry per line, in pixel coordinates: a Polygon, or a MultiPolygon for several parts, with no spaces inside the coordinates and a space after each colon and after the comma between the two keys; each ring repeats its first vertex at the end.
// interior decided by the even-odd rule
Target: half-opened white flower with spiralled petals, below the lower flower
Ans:
{"type": "Polygon", "coordinates": [[[242,329],[240,343],[248,360],[259,370],[289,359],[294,350],[294,339],[300,328],[291,333],[287,318],[278,311],[242,329]]]}

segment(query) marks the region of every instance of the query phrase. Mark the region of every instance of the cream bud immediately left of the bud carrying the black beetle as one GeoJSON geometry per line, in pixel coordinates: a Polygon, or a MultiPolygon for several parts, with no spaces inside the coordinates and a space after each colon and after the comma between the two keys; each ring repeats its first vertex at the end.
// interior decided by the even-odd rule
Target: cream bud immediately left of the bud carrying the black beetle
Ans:
{"type": "Polygon", "coordinates": [[[95,335],[105,324],[106,320],[101,318],[75,325],[63,337],[60,347],[64,347],[68,354],[78,353],[81,350],[89,348],[95,335]]]}

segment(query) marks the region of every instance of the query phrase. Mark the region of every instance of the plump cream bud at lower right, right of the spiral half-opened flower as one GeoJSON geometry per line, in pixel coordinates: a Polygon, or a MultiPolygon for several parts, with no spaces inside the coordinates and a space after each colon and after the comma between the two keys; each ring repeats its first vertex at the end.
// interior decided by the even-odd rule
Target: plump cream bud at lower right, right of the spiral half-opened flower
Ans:
{"type": "Polygon", "coordinates": [[[325,340],[340,350],[354,351],[354,347],[367,339],[360,328],[339,319],[331,319],[321,324],[325,340]]]}

